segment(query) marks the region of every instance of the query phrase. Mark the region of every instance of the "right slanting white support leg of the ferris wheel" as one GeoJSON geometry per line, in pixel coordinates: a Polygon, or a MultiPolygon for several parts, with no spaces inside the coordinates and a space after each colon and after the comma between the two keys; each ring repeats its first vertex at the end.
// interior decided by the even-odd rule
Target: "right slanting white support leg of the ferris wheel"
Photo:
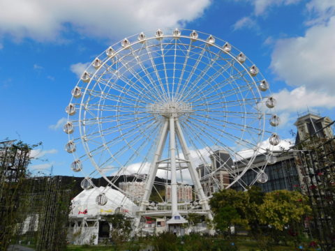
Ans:
{"type": "Polygon", "coordinates": [[[183,151],[184,158],[188,160],[188,172],[190,172],[191,174],[191,178],[194,183],[196,194],[199,195],[200,201],[202,201],[204,209],[208,211],[207,217],[209,218],[209,220],[213,220],[213,215],[211,214],[211,211],[210,211],[211,208],[209,207],[209,204],[208,204],[208,198],[206,195],[204,195],[204,190],[202,189],[202,186],[200,184],[199,176],[197,172],[195,171],[195,165],[193,164],[191,160],[191,153],[188,150],[186,140],[184,138],[184,134],[181,130],[181,126],[179,124],[178,119],[176,119],[175,124],[176,124],[177,136],[181,144],[181,149],[183,151]]]}

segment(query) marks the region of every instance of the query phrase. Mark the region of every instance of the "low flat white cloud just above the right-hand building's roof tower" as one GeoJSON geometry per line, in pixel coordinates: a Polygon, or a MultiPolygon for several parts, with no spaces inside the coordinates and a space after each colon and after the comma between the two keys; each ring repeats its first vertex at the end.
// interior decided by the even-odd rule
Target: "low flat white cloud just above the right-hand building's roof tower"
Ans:
{"type": "Polygon", "coordinates": [[[299,86],[292,91],[283,89],[274,93],[277,100],[276,110],[285,112],[298,112],[313,107],[335,107],[334,96],[317,90],[306,89],[299,86]]]}

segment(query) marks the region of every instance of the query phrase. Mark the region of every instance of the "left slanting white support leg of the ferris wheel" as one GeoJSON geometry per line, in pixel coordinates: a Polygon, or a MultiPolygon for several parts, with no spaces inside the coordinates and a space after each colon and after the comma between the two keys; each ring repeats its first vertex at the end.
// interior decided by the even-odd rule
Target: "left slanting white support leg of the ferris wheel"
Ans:
{"type": "MultiPolygon", "coordinates": [[[[168,119],[165,119],[165,123],[163,125],[163,129],[161,131],[161,136],[159,137],[156,153],[154,156],[154,161],[151,162],[149,175],[147,179],[147,183],[144,188],[144,195],[140,204],[140,212],[144,211],[147,207],[147,204],[149,204],[149,197],[151,194],[152,186],[154,185],[154,181],[157,174],[158,165],[157,162],[161,159],[161,155],[163,152],[163,147],[165,145],[166,138],[168,137],[168,126],[169,121],[168,119]]],[[[137,215],[135,218],[135,229],[138,229],[140,225],[141,215],[137,215]]]]}

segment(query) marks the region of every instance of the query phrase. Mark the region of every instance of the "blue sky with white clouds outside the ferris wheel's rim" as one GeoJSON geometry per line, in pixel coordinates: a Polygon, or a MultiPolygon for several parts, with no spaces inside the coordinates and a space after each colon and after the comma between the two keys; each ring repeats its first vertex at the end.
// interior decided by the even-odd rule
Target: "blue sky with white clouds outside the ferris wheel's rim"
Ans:
{"type": "Polygon", "coordinates": [[[0,139],[43,142],[31,170],[73,175],[64,109],[78,74],[112,43],[181,27],[229,41],[271,83],[289,138],[297,112],[335,119],[334,0],[0,2],[0,139]]]}

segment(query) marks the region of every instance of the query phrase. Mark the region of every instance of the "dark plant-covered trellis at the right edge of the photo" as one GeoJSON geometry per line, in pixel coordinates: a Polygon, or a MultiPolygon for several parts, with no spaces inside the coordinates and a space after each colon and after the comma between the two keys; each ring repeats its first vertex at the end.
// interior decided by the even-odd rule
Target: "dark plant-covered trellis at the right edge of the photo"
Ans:
{"type": "Polygon", "coordinates": [[[318,133],[332,128],[334,121],[295,146],[297,168],[302,175],[301,192],[308,195],[313,218],[311,234],[320,240],[322,250],[335,246],[335,137],[318,133]]]}

